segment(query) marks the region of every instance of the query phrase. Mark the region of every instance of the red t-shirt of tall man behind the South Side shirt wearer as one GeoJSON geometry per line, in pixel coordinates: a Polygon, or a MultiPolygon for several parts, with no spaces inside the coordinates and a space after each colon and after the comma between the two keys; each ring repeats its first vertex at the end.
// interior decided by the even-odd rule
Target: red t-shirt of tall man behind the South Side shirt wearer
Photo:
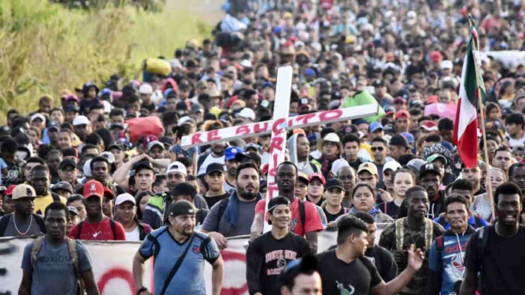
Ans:
{"type": "MultiPolygon", "coordinates": [[[[261,199],[255,205],[255,214],[264,214],[266,206],[266,200],[261,199]]],[[[295,198],[292,202],[292,220],[291,228],[293,233],[299,236],[304,236],[304,231],[320,231],[323,230],[323,224],[321,223],[321,217],[317,213],[316,205],[310,202],[304,202],[304,231],[302,230],[301,218],[299,217],[299,198],[295,198]]]]}

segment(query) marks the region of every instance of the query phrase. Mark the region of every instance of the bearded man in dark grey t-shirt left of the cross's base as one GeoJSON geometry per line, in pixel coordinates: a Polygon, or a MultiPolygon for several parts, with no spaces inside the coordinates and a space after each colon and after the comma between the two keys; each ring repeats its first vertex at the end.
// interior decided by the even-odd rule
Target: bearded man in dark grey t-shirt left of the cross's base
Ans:
{"type": "Polygon", "coordinates": [[[254,163],[240,164],[235,181],[236,191],[209,210],[201,229],[215,239],[220,249],[226,247],[226,237],[250,233],[255,205],[262,198],[259,193],[259,170],[254,163]]]}

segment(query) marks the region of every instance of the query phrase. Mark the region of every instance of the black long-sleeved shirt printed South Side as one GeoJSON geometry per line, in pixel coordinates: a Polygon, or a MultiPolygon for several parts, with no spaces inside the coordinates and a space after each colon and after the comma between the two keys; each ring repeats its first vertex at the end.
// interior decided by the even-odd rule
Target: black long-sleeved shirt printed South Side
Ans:
{"type": "Polygon", "coordinates": [[[292,260],[310,252],[306,239],[288,233],[276,239],[271,231],[256,238],[246,251],[246,278],[250,294],[280,294],[279,275],[292,260]]]}

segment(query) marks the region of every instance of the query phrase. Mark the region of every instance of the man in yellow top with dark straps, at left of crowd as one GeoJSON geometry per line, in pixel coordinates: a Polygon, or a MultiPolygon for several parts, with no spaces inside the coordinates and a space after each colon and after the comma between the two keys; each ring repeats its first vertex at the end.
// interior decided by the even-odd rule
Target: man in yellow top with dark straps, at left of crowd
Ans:
{"type": "Polygon", "coordinates": [[[31,170],[30,185],[35,188],[35,213],[43,215],[46,207],[53,202],[66,204],[67,199],[49,191],[49,170],[45,165],[38,165],[31,170]]]}

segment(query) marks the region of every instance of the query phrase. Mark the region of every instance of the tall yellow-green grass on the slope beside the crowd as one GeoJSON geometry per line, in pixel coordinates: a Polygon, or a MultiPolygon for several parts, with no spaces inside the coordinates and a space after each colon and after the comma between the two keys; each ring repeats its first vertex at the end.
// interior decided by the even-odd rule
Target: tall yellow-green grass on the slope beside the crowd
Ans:
{"type": "MultiPolygon", "coordinates": [[[[136,7],[67,9],[47,0],[0,0],[0,120],[6,111],[37,109],[51,94],[113,73],[140,77],[146,57],[171,58],[211,26],[185,11],[144,12],[136,7]]],[[[1,124],[1,123],[0,123],[1,124]]]]}

